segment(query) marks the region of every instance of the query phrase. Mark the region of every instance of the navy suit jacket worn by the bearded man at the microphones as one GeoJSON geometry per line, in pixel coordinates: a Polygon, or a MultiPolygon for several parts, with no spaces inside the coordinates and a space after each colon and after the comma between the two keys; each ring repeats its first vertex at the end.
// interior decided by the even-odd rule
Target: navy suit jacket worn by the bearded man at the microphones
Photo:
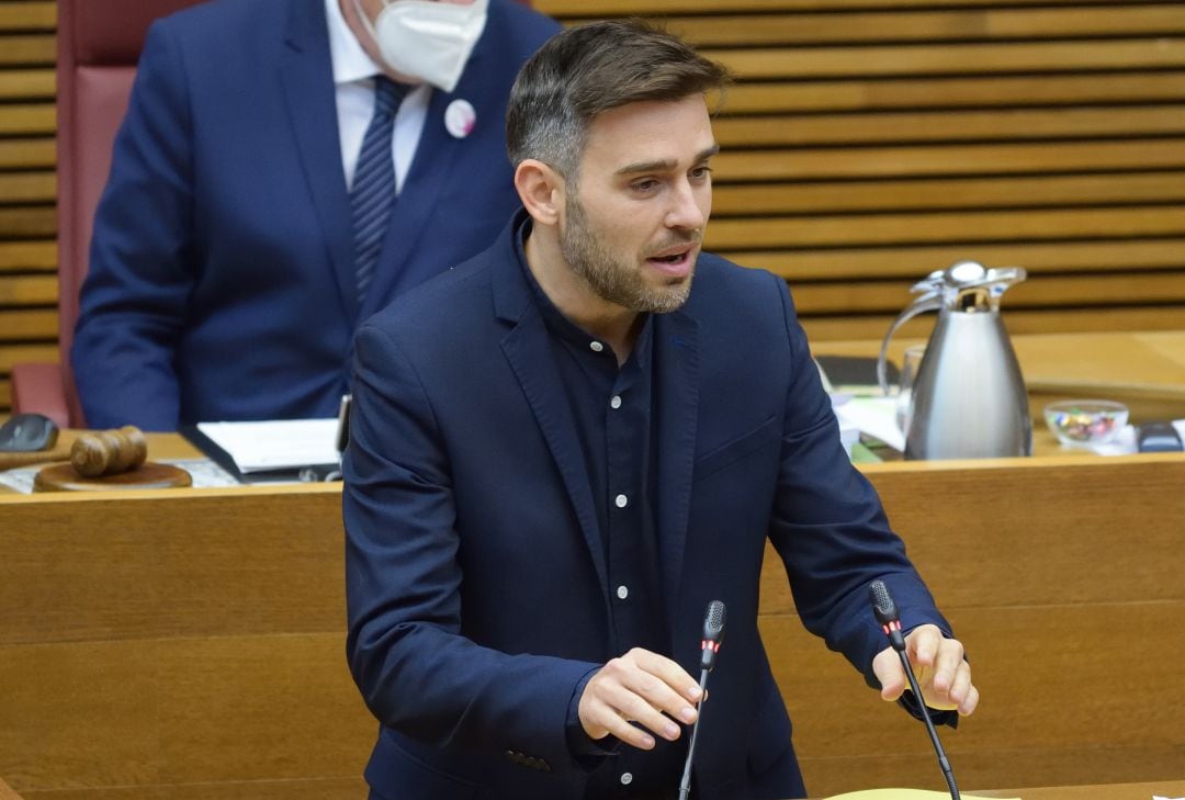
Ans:
{"type": "MultiPolygon", "coordinates": [[[[367,777],[385,798],[582,798],[569,703],[620,655],[595,498],[513,236],[356,343],[347,651],[383,725],[367,777]]],[[[907,626],[947,625],[840,444],[784,282],[705,254],[685,306],[653,326],[667,653],[688,673],[704,609],[728,606],[697,796],[802,796],[757,631],[767,539],[806,626],[872,685],[886,642],[870,581],[907,626]]]]}

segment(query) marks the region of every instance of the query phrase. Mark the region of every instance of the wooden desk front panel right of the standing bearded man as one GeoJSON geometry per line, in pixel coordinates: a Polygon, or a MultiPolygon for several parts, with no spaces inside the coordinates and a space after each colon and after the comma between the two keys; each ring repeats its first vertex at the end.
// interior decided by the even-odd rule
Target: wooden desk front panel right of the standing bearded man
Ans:
{"type": "MultiPolygon", "coordinates": [[[[865,473],[982,693],[940,730],[961,787],[1185,776],[1185,456],[865,473]]],[[[763,580],[762,635],[811,794],[942,789],[924,729],[802,629],[776,558],[763,580]]]]}

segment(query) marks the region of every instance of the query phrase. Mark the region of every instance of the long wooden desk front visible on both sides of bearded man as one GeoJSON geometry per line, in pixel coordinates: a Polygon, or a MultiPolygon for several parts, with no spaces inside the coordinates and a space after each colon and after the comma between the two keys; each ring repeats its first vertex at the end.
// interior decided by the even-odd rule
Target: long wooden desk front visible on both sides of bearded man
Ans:
{"type": "MultiPolygon", "coordinates": [[[[971,648],[961,785],[1180,777],[1185,456],[864,472],[971,648]]],[[[0,774],[26,800],[361,796],[337,486],[0,497],[0,774]]],[[[760,625],[815,795],[942,788],[776,558],[760,625]]]]}

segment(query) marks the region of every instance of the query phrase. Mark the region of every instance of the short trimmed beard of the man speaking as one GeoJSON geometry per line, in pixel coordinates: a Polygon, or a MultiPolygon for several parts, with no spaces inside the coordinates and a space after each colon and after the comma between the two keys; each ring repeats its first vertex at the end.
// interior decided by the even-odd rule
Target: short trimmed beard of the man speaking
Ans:
{"type": "MultiPolygon", "coordinates": [[[[598,297],[632,312],[654,314],[673,312],[686,302],[691,294],[694,264],[684,281],[647,286],[638,268],[621,262],[601,244],[596,231],[589,225],[584,207],[575,198],[569,196],[564,207],[566,220],[559,236],[561,252],[598,297]]],[[[678,244],[693,245],[698,241],[698,232],[675,235],[656,249],[678,244]]]]}

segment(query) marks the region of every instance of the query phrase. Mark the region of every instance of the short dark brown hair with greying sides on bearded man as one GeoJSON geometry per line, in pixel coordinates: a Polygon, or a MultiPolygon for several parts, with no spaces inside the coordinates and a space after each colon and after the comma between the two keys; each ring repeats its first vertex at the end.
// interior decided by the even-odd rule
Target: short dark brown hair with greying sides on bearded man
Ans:
{"type": "Polygon", "coordinates": [[[515,167],[537,159],[575,181],[600,114],[642,101],[677,101],[723,89],[728,69],[641,19],[578,25],[549,39],[523,65],[506,109],[515,167]]]}

